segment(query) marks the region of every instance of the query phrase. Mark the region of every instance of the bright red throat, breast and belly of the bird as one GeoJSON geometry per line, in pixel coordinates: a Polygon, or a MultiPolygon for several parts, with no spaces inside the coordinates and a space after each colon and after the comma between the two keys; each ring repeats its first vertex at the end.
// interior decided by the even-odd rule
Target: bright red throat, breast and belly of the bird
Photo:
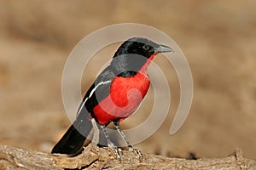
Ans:
{"type": "Polygon", "coordinates": [[[96,120],[106,125],[111,121],[122,121],[137,110],[148,92],[150,80],[147,75],[148,65],[156,54],[152,55],[143,68],[132,77],[114,77],[110,94],[94,108],[96,120]]]}

